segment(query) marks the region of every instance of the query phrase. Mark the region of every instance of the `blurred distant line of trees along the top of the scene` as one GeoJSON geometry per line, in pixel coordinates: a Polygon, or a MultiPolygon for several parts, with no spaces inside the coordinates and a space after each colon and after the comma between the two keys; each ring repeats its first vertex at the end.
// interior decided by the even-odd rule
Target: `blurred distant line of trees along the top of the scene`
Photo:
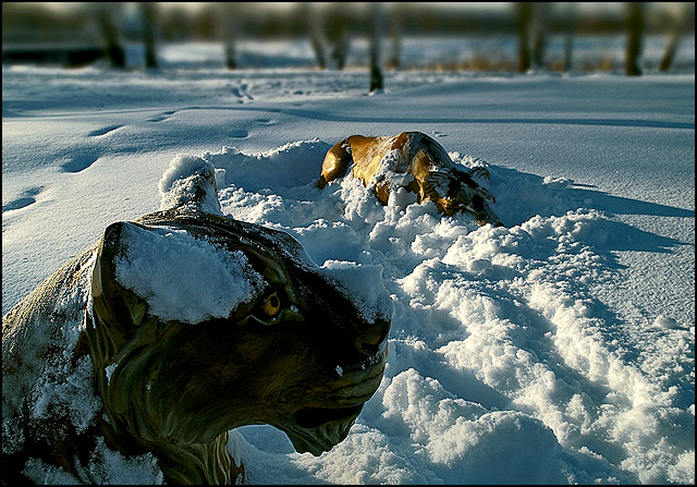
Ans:
{"type": "MultiPolygon", "coordinates": [[[[242,38],[308,37],[320,69],[343,69],[351,41],[370,40],[371,90],[382,86],[382,66],[400,68],[403,36],[516,35],[517,70],[546,66],[551,35],[562,34],[564,70],[573,57],[573,39],[579,35],[626,36],[625,71],[640,74],[639,57],[647,34],[669,36],[660,69],[670,69],[682,35],[695,32],[693,2],[683,4],[680,15],[660,3],[624,2],[624,9],[582,10],[576,2],[512,2],[511,9],[437,9],[427,3],[298,2],[290,10],[273,10],[250,2],[205,2],[196,11],[158,2],[83,2],[81,8],[49,11],[37,3],[2,3],[3,62],[5,42],[81,40],[91,36],[103,46],[102,54],[115,68],[125,64],[123,42],[143,42],[145,68],[158,66],[156,42],[175,40],[222,41],[224,63],[236,69],[237,42],[242,38]],[[321,7],[320,7],[321,5],[321,7]],[[87,33],[87,35],[86,35],[87,33]],[[384,42],[384,41],[388,42],[384,42]]],[[[56,47],[54,47],[56,49],[56,47]]],[[[72,52],[75,56],[75,52],[72,52]]],[[[84,59],[94,58],[94,52],[84,59]]]]}

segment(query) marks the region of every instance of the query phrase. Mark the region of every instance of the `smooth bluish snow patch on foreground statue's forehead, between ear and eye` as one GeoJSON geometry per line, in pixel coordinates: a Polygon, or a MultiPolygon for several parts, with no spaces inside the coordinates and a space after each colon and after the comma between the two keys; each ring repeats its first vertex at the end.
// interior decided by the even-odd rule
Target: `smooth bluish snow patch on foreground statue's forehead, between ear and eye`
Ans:
{"type": "Polygon", "coordinates": [[[117,280],[163,321],[224,318],[266,284],[241,251],[228,252],[173,228],[124,223],[117,280]]]}

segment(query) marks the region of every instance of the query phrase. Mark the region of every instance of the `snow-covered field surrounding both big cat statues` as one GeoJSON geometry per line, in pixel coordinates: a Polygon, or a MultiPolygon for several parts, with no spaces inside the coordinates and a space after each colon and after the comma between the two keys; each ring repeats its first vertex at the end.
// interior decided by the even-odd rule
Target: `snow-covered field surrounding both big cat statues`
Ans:
{"type": "Polygon", "coordinates": [[[3,66],[3,314],[109,223],[157,210],[176,155],[201,156],[224,214],[318,265],[382,266],[394,302],[384,378],[348,437],[315,458],[269,426],[234,430],[247,484],[695,483],[694,39],[686,73],[403,71],[375,95],[365,70],[231,72],[221,52],[163,48],[155,72],[3,66]],[[350,179],[316,187],[340,139],[403,131],[486,166],[505,227],[408,194],[382,207],[350,179]]]}

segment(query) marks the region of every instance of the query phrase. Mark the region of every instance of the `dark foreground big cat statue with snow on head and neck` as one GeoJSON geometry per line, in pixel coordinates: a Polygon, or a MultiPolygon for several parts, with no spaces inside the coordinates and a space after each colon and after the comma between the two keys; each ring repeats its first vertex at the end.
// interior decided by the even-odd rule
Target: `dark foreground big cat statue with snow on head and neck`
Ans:
{"type": "Polygon", "coordinates": [[[3,317],[3,482],[230,483],[228,430],[273,425],[318,455],[377,390],[381,268],[318,268],[222,216],[198,157],[160,192],[3,317]]]}

